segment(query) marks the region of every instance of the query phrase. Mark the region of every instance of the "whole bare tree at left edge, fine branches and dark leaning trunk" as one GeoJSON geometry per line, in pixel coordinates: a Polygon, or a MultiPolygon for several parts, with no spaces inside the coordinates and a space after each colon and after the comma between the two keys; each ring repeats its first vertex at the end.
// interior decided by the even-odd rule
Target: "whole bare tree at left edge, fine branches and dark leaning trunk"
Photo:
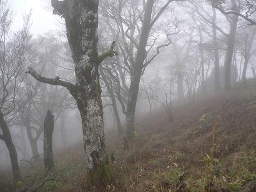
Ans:
{"type": "Polygon", "coordinates": [[[30,14],[25,15],[22,29],[11,34],[12,12],[7,1],[0,1],[0,139],[9,150],[14,179],[21,178],[21,175],[10,126],[33,92],[32,85],[32,92],[22,91],[26,76],[24,68],[32,52],[29,19],[30,14]],[[22,94],[19,95],[19,92],[22,94]]]}

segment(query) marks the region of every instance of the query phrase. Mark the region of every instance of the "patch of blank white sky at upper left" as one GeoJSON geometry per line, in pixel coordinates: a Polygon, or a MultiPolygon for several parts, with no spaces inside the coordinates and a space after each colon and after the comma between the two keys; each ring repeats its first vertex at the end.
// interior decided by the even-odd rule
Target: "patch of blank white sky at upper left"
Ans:
{"type": "Polygon", "coordinates": [[[8,2],[15,16],[12,29],[19,29],[22,26],[22,14],[29,12],[31,8],[31,33],[34,36],[57,29],[58,16],[52,14],[45,0],[8,0],[8,2]]]}

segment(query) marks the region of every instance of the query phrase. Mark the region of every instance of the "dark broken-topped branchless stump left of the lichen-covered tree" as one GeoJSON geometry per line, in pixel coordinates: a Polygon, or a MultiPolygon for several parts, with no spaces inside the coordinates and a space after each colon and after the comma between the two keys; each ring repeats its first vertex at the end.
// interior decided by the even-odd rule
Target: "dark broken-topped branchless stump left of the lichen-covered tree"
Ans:
{"type": "Polygon", "coordinates": [[[54,130],[54,115],[47,111],[46,119],[44,120],[44,167],[46,170],[51,170],[54,167],[53,152],[52,152],[52,133],[54,130]]]}

